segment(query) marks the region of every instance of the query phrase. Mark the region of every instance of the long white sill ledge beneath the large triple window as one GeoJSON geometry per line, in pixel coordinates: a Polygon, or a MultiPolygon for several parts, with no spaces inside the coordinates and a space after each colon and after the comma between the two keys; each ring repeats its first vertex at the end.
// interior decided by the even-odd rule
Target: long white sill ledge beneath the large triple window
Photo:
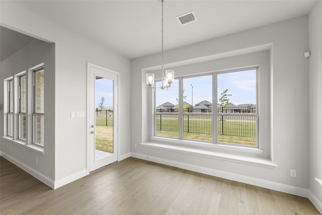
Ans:
{"type": "Polygon", "coordinates": [[[174,146],[170,144],[156,143],[156,142],[143,142],[140,145],[143,147],[163,149],[163,150],[181,152],[181,153],[192,154],[192,155],[199,155],[204,157],[216,158],[220,160],[249,164],[249,165],[260,166],[260,167],[271,168],[271,169],[276,169],[278,167],[270,159],[265,159],[265,158],[232,155],[228,153],[214,152],[206,149],[196,149],[196,148],[187,147],[187,146],[174,146]]]}

